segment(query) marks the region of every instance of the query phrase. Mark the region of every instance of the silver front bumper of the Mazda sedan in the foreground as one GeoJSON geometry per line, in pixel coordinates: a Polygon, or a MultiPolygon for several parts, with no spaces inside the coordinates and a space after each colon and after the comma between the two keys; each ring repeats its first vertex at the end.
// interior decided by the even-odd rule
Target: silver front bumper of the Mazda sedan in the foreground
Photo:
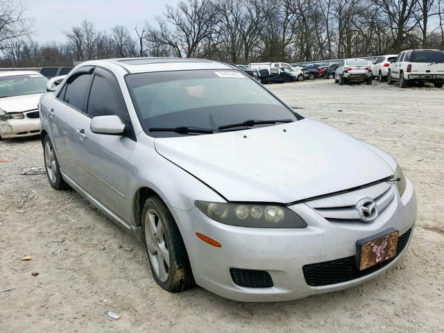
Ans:
{"type": "Polygon", "coordinates": [[[294,300],[352,287],[395,265],[409,244],[378,271],[338,284],[311,287],[302,267],[355,255],[357,240],[388,228],[404,234],[415,224],[417,205],[413,185],[407,180],[402,198],[396,191],[395,200],[372,223],[331,223],[305,203],[290,208],[307,222],[307,228],[240,228],[212,221],[196,208],[187,212],[171,208],[184,238],[196,283],[225,298],[250,302],[294,300]],[[200,241],[196,232],[219,241],[222,247],[200,241]],[[266,271],[273,279],[273,287],[239,287],[231,278],[230,268],[266,271]]]}

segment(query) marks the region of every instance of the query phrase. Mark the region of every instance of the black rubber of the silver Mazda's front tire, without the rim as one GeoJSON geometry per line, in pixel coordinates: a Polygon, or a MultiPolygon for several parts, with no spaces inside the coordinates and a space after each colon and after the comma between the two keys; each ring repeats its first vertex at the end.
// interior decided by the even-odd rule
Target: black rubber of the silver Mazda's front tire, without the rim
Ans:
{"type": "MultiPolygon", "coordinates": [[[[158,221],[158,220],[157,220],[158,221]]],[[[148,220],[149,223],[149,220],[148,220]]],[[[157,225],[159,225],[159,221],[157,225]]],[[[149,226],[148,226],[149,228],[149,226]]],[[[144,210],[142,213],[142,230],[144,232],[145,248],[148,255],[148,262],[150,263],[151,273],[157,284],[163,289],[170,291],[171,293],[177,293],[180,291],[185,291],[194,287],[194,277],[191,271],[191,265],[189,264],[187,249],[183,242],[182,236],[176,221],[174,221],[171,212],[168,210],[167,205],[165,205],[158,196],[151,196],[146,199],[144,204],[144,210]],[[169,271],[168,279],[164,282],[155,273],[155,268],[151,262],[150,256],[148,255],[147,237],[146,237],[146,221],[148,219],[148,211],[155,212],[163,225],[164,243],[169,252],[169,271]]],[[[163,262],[162,262],[163,264],[163,262]]]]}

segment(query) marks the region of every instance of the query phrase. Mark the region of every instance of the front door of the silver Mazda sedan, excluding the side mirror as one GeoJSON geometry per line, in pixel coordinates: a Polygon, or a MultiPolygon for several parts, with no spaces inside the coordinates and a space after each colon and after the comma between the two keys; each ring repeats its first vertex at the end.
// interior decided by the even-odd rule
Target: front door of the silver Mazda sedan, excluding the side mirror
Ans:
{"type": "Polygon", "coordinates": [[[87,112],[78,131],[83,133],[78,144],[78,163],[82,167],[79,185],[124,221],[130,220],[126,210],[128,199],[128,163],[135,146],[135,133],[117,79],[106,69],[96,67],[87,101],[87,112]],[[94,117],[117,115],[126,123],[124,135],[92,133],[94,117]]]}

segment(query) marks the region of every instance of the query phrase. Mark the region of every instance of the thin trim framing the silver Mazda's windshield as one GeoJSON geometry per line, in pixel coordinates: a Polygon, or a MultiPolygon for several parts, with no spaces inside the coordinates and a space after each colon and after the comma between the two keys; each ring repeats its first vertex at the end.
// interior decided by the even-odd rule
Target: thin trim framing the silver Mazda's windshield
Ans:
{"type": "MultiPolygon", "coordinates": [[[[177,72],[177,71],[220,71],[220,70],[224,70],[224,71],[230,71],[230,70],[235,70],[235,71],[239,71],[239,73],[244,74],[243,71],[241,71],[240,69],[237,68],[221,68],[221,69],[180,69],[180,70],[171,70],[171,71],[142,71],[142,72],[137,72],[137,73],[128,73],[125,74],[123,76],[123,80],[125,81],[125,85],[126,85],[126,89],[128,90],[128,94],[130,94],[130,100],[131,103],[133,105],[133,108],[136,112],[136,116],[137,116],[137,120],[139,121],[139,126],[140,128],[142,128],[142,131],[148,136],[148,137],[152,137],[151,135],[149,135],[148,133],[145,132],[144,130],[144,126],[143,126],[143,122],[144,119],[142,119],[141,116],[141,112],[139,110],[139,105],[137,105],[137,103],[135,103],[136,99],[133,93],[133,89],[130,89],[130,87],[128,86],[128,81],[126,80],[129,76],[133,76],[136,74],[150,74],[150,73],[172,73],[172,72],[177,72]]],[[[246,75],[246,79],[249,80],[253,80],[257,85],[260,85],[262,87],[262,89],[265,89],[266,92],[268,92],[268,94],[271,94],[271,96],[273,96],[276,100],[279,101],[279,103],[282,104],[282,106],[284,106],[284,108],[287,108],[290,112],[292,112],[294,114],[294,116],[296,117],[296,121],[300,121],[302,119],[305,119],[305,117],[303,117],[301,114],[299,114],[298,112],[296,112],[295,110],[293,110],[293,108],[291,108],[290,105],[288,105],[287,103],[285,103],[284,101],[282,101],[282,99],[280,99],[278,96],[276,96],[275,94],[273,94],[273,92],[271,92],[270,90],[268,90],[266,87],[264,87],[264,85],[262,85],[261,83],[257,82],[257,80],[255,80],[254,78],[246,75]]],[[[278,124],[276,124],[278,125],[278,124]]],[[[255,129],[254,127],[252,128],[245,128],[245,130],[253,130],[255,129]]],[[[225,132],[225,131],[223,131],[225,132]]],[[[223,133],[222,132],[222,133],[223,133]]],[[[155,139],[155,137],[152,137],[153,139],[155,139]]]]}

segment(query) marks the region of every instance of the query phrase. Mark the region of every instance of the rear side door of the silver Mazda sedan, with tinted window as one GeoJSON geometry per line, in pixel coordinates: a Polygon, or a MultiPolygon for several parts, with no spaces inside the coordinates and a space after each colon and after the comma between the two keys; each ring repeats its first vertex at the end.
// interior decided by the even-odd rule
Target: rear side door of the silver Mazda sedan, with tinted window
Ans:
{"type": "Polygon", "coordinates": [[[79,133],[77,128],[85,118],[87,92],[92,80],[94,67],[82,67],[69,76],[65,85],[49,106],[49,132],[60,169],[65,175],[78,181],[80,176],[77,164],[79,133]]]}

